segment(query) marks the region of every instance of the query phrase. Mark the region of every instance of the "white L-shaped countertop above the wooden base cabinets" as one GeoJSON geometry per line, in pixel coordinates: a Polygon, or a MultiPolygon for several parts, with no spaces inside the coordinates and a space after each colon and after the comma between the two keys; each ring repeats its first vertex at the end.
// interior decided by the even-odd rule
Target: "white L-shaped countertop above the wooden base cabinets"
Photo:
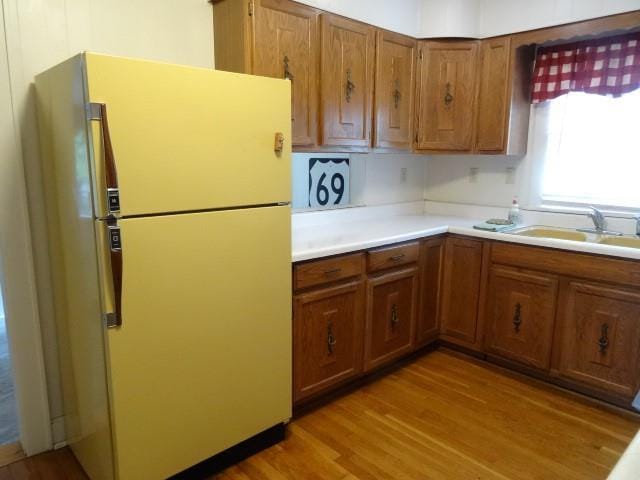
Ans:
{"type": "Polygon", "coordinates": [[[380,215],[378,218],[351,218],[349,221],[340,219],[335,223],[324,222],[318,225],[304,224],[301,226],[296,226],[294,221],[292,261],[300,262],[328,257],[447,232],[504,242],[640,260],[640,249],[551,238],[524,237],[509,233],[485,232],[473,228],[473,225],[477,223],[480,223],[480,220],[424,214],[380,215]]]}

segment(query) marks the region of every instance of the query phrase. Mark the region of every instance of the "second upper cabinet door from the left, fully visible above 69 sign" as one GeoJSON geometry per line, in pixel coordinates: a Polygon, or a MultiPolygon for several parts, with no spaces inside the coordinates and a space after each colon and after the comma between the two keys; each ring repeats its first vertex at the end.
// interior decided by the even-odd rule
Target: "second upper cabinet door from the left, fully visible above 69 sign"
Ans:
{"type": "Polygon", "coordinates": [[[369,147],[373,102],[373,27],[322,15],[322,144],[369,147]]]}

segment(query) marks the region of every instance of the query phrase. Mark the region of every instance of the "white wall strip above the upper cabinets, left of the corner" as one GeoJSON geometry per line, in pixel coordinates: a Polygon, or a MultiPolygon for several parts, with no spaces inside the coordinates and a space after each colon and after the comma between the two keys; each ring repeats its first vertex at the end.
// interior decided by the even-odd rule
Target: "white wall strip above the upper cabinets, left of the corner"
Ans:
{"type": "Polygon", "coordinates": [[[418,36],[422,0],[298,0],[405,35],[418,36]]]}

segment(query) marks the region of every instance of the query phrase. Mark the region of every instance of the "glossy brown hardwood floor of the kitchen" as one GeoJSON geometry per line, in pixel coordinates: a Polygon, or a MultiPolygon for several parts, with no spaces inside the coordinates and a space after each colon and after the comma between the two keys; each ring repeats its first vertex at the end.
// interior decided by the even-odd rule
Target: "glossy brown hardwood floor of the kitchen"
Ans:
{"type": "MultiPolygon", "coordinates": [[[[438,350],[295,419],[218,475],[247,479],[605,479],[640,428],[617,412],[438,350]]],[[[86,478],[67,450],[0,480],[86,478]]]]}

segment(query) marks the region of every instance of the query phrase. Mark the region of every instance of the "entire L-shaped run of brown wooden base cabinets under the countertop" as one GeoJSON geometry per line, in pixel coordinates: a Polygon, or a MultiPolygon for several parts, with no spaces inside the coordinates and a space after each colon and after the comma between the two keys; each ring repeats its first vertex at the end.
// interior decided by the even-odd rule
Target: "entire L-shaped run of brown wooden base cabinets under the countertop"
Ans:
{"type": "Polygon", "coordinates": [[[294,403],[429,342],[631,408],[640,261],[448,235],[294,266],[294,403]]]}

